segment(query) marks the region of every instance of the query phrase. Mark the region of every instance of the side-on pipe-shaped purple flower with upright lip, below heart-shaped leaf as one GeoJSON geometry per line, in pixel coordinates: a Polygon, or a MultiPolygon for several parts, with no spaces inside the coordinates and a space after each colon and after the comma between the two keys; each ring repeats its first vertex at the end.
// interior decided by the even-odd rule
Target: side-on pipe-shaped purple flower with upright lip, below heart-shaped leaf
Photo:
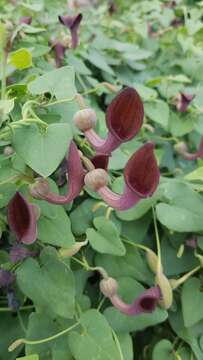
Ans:
{"type": "Polygon", "coordinates": [[[67,157],[67,193],[65,195],[52,193],[48,181],[43,178],[37,179],[36,183],[31,186],[30,193],[34,198],[46,200],[52,204],[67,204],[80,194],[84,184],[84,175],[77,146],[71,141],[67,157]]]}

